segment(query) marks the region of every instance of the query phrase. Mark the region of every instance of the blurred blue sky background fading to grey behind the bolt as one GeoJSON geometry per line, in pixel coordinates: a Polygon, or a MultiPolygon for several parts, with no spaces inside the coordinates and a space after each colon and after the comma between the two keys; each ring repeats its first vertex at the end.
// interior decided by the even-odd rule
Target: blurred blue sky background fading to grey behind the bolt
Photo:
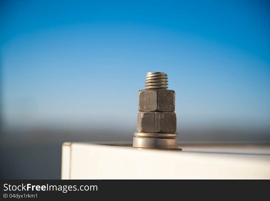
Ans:
{"type": "Polygon", "coordinates": [[[1,178],[60,179],[64,141],[131,141],[145,73],[179,140],[270,142],[269,1],[0,1],[1,178]]]}

